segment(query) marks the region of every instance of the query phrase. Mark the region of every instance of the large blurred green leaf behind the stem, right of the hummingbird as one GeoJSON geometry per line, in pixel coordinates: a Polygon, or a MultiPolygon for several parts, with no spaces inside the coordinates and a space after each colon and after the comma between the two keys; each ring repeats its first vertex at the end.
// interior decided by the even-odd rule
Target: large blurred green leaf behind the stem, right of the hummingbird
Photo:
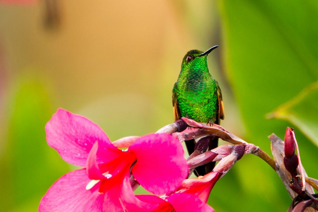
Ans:
{"type": "MultiPolygon", "coordinates": [[[[266,120],[266,113],[318,79],[318,48],[313,45],[318,36],[318,4],[313,0],[306,3],[223,0],[219,6],[223,38],[220,48],[225,58],[223,68],[246,126],[245,140],[270,153],[267,136],[276,133],[283,137],[289,124],[282,120],[266,120]]],[[[298,134],[297,138],[304,140],[298,134]]],[[[307,150],[312,148],[310,142],[301,142],[300,146],[307,150]]],[[[306,152],[302,155],[306,167],[307,161],[318,160],[316,154],[306,152]]],[[[239,173],[245,173],[239,176],[246,192],[239,198],[245,204],[236,201],[240,204],[238,208],[245,211],[286,210],[291,199],[276,173],[262,161],[249,159],[243,157],[235,166],[239,173]]],[[[317,174],[315,170],[312,172],[317,174]]]]}

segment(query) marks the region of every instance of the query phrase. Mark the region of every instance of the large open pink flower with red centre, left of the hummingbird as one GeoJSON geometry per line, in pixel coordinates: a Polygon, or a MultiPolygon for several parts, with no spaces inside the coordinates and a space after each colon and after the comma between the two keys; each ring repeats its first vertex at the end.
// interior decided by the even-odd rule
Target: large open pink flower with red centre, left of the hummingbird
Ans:
{"type": "Polygon", "coordinates": [[[120,150],[96,124],[63,109],[52,116],[45,131],[49,146],[66,162],[86,168],[56,181],[43,196],[40,212],[124,211],[129,205],[125,201],[135,198],[130,171],[154,194],[175,190],[188,174],[182,146],[171,135],[142,136],[120,150]]]}

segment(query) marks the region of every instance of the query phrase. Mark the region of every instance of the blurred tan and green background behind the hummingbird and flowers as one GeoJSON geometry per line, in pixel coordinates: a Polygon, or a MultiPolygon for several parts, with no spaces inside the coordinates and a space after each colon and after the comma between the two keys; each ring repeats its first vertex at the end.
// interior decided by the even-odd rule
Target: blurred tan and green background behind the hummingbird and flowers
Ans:
{"type": "MultiPolygon", "coordinates": [[[[318,178],[317,14],[314,0],[0,0],[1,210],[37,211],[74,168],[45,140],[57,108],[88,117],[111,140],[156,132],[173,122],[184,54],[214,45],[221,125],[270,155],[267,136],[294,127],[302,164],[318,178]]],[[[291,201],[278,175],[246,155],[208,204],[286,211],[291,201]]]]}

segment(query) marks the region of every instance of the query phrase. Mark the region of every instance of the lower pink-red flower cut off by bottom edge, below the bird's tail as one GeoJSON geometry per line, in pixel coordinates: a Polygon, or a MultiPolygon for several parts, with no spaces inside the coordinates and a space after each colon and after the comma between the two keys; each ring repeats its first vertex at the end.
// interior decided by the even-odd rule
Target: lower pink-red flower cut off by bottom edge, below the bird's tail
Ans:
{"type": "MultiPolygon", "coordinates": [[[[123,207],[127,211],[151,212],[213,212],[206,204],[211,189],[222,174],[211,172],[204,179],[186,179],[177,191],[161,198],[154,195],[133,195],[132,189],[122,192],[123,207]],[[129,192],[128,192],[129,191],[129,192]]],[[[130,188],[130,182],[124,180],[124,186],[130,188]]]]}

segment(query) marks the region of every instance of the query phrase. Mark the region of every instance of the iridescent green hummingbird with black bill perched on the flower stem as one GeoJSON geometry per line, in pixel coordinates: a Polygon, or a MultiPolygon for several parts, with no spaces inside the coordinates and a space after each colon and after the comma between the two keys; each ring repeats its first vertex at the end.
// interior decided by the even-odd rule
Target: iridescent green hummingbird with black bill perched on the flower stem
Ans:
{"type": "MultiPolygon", "coordinates": [[[[224,119],[222,93],[218,82],[211,76],[207,56],[218,46],[207,51],[190,50],[182,60],[181,72],[172,89],[172,105],[174,119],[186,117],[197,122],[220,124],[224,119]]],[[[189,155],[195,150],[200,153],[218,147],[218,137],[201,136],[198,139],[185,141],[189,155]]],[[[196,176],[204,175],[213,170],[215,162],[197,167],[196,176]]]]}

